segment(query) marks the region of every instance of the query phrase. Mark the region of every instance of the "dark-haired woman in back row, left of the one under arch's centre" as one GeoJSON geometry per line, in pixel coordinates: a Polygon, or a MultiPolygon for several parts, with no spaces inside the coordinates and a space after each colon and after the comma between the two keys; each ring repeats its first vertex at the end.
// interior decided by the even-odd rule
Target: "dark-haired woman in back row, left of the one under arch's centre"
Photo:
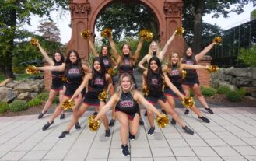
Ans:
{"type": "MultiPolygon", "coordinates": [[[[114,61],[113,58],[111,58],[110,56],[110,50],[109,47],[107,45],[103,45],[100,49],[100,54],[98,54],[98,52],[96,51],[94,44],[91,40],[89,40],[89,47],[91,48],[91,50],[93,51],[93,55],[94,57],[101,57],[103,59],[103,64],[104,64],[104,68],[105,71],[107,72],[108,69],[110,68],[117,68],[117,62],[114,61]]],[[[113,79],[112,79],[113,81],[113,79]]],[[[110,86],[110,96],[112,96],[114,94],[114,81],[112,83],[112,86],[110,86]]],[[[96,113],[95,113],[96,115],[96,113]]],[[[109,125],[110,126],[114,126],[114,122],[115,122],[115,116],[114,116],[114,109],[112,110],[112,119],[110,120],[109,125]]]]}

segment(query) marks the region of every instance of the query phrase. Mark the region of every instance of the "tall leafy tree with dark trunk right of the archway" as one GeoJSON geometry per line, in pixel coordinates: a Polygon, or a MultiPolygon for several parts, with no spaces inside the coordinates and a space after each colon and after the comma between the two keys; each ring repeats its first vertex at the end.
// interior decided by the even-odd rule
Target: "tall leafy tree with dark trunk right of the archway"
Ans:
{"type": "MultiPolygon", "coordinates": [[[[193,22],[193,26],[186,26],[186,30],[191,31],[194,35],[193,38],[193,50],[195,53],[201,51],[202,44],[202,16],[209,13],[214,13],[212,18],[218,18],[219,16],[228,17],[230,12],[237,12],[240,14],[244,12],[243,7],[249,2],[253,2],[253,5],[256,5],[254,0],[186,0],[184,1],[184,12],[183,17],[184,21],[193,22]],[[230,9],[232,7],[232,9],[230,9]]],[[[190,22],[190,23],[191,23],[190,22]]]]}

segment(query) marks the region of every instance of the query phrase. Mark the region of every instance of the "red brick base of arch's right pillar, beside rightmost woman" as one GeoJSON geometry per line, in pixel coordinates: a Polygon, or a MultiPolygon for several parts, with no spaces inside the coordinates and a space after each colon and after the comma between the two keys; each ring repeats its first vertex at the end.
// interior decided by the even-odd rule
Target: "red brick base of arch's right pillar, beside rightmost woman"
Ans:
{"type": "MultiPolygon", "coordinates": [[[[211,65],[212,57],[209,55],[205,55],[201,61],[198,62],[198,65],[211,65]]],[[[197,69],[198,79],[200,82],[200,86],[210,86],[210,73],[205,69],[197,69]]]]}

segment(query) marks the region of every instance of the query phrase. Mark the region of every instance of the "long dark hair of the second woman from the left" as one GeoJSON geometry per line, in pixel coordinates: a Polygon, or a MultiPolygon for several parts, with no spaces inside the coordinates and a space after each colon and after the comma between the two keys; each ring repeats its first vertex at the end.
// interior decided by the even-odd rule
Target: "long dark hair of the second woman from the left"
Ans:
{"type": "Polygon", "coordinates": [[[74,53],[75,54],[75,56],[76,56],[76,62],[75,62],[75,64],[77,65],[77,67],[79,68],[79,72],[82,74],[82,76],[84,76],[85,75],[85,72],[83,71],[83,69],[82,69],[82,62],[81,62],[81,58],[79,57],[79,53],[77,52],[77,51],[75,51],[75,50],[70,50],[70,51],[68,51],[68,56],[67,56],[67,60],[66,60],[66,62],[65,62],[65,75],[67,75],[68,74],[68,70],[70,69],[70,68],[72,68],[72,62],[70,61],[70,54],[72,54],[72,53],[74,53]]]}

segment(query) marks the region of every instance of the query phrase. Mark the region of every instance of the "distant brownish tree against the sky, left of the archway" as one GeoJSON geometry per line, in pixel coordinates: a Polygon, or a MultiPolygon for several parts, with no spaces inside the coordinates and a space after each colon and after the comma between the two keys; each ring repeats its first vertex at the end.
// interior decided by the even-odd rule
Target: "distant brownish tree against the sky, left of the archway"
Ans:
{"type": "Polygon", "coordinates": [[[38,32],[43,33],[43,37],[45,40],[53,41],[53,42],[61,42],[61,37],[60,37],[60,30],[56,26],[56,23],[53,21],[47,21],[44,23],[40,23],[38,27],[38,32]]]}

